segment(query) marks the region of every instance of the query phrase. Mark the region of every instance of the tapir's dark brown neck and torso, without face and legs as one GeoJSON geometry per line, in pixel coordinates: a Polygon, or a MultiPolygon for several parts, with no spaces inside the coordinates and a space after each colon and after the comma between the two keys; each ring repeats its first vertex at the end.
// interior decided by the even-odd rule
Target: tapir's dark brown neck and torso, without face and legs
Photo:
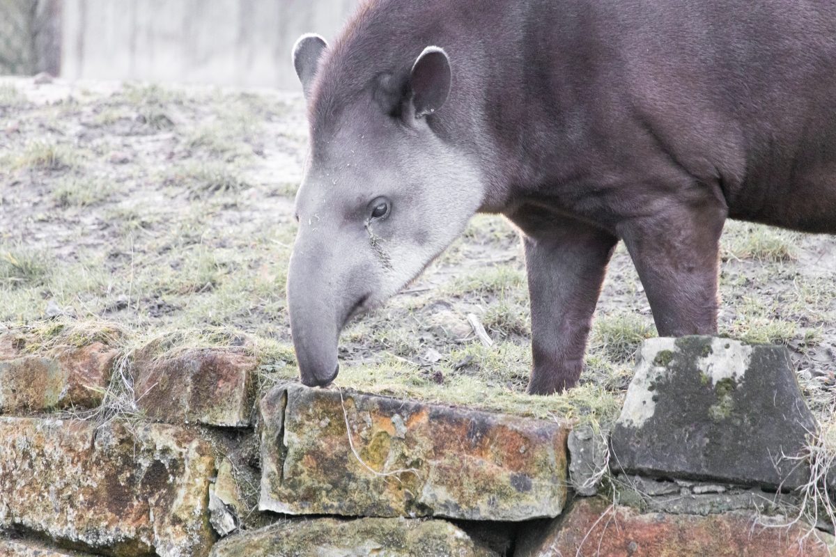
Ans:
{"type": "Polygon", "coordinates": [[[681,173],[732,218],[836,230],[833,0],[376,0],[324,60],[312,129],[427,44],[454,68],[431,125],[492,165],[486,210],[681,173]]]}

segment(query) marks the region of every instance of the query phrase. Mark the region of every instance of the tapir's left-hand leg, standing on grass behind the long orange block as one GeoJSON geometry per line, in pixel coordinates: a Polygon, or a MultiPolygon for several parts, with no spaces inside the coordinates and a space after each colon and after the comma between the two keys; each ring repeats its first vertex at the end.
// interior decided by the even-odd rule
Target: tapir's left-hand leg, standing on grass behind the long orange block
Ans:
{"type": "Polygon", "coordinates": [[[523,230],[531,297],[533,371],[528,392],[551,394],[578,382],[592,315],[618,239],[555,215],[512,215],[523,230]]]}

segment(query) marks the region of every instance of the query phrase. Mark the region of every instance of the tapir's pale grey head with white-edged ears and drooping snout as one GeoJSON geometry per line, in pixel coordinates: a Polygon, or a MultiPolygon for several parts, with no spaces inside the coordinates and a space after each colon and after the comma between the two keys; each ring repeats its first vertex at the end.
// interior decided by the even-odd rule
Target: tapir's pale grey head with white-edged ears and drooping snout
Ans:
{"type": "Polygon", "coordinates": [[[305,35],[293,63],[308,101],[310,152],[296,198],[288,307],[302,382],[324,386],[339,372],[345,324],[461,234],[482,186],[472,157],[440,131],[453,81],[441,48],[369,72],[344,45],[332,53],[323,38],[305,35]],[[357,68],[346,73],[345,63],[357,68]]]}

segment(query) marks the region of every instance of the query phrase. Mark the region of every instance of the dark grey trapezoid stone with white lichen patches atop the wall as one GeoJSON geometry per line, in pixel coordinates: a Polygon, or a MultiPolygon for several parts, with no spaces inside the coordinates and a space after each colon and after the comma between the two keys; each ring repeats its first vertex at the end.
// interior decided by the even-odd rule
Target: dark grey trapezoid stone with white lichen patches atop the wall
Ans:
{"type": "Polygon", "coordinates": [[[715,337],[645,342],[612,438],[627,473],[794,489],[815,429],[783,347],[715,337]]]}

